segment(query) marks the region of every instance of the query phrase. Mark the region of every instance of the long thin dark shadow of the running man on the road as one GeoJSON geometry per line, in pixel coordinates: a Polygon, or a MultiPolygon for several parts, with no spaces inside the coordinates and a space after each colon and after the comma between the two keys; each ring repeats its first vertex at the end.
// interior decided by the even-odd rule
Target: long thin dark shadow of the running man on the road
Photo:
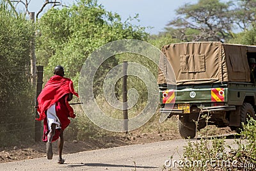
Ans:
{"type": "Polygon", "coordinates": [[[114,165],[107,163],[74,163],[74,164],[66,164],[65,167],[127,167],[127,168],[157,168],[157,167],[143,167],[143,166],[135,166],[135,165],[114,165]]]}

